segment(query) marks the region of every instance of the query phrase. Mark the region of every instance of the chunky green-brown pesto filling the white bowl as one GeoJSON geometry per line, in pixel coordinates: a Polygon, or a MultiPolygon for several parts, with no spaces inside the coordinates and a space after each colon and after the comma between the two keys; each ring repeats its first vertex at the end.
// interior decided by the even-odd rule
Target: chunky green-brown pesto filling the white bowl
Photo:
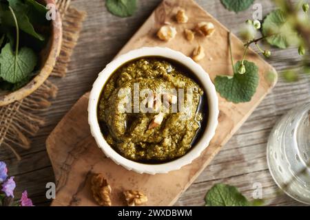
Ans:
{"type": "Polygon", "coordinates": [[[123,157],[147,164],[185,155],[207,123],[207,98],[192,76],[183,65],[153,56],[116,69],[98,107],[107,143],[123,157]]]}

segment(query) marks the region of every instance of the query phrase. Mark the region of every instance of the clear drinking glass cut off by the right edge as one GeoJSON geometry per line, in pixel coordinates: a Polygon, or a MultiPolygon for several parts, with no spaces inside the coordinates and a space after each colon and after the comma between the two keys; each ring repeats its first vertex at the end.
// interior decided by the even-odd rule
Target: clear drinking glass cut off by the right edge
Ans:
{"type": "Polygon", "coordinates": [[[310,103],[292,109],[274,126],[267,162],[276,184],[287,195],[310,204],[310,103]]]}

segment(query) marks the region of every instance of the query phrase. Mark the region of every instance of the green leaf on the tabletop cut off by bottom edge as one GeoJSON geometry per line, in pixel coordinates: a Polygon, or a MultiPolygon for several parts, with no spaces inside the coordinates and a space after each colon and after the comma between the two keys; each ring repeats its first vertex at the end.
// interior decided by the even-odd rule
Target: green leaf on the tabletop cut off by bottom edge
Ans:
{"type": "Polygon", "coordinates": [[[205,196],[205,206],[250,206],[235,186],[215,184],[205,196]]]}

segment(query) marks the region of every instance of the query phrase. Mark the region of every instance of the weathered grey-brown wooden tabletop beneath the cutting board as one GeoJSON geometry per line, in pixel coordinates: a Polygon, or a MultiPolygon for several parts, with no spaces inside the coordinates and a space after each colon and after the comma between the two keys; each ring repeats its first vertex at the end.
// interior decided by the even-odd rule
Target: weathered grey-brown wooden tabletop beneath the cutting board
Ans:
{"type": "MultiPolygon", "coordinates": [[[[50,205],[50,200],[45,198],[45,184],[54,181],[54,175],[45,151],[46,137],[72,104],[90,90],[98,72],[112,60],[160,1],[140,0],[136,15],[127,19],[108,13],[103,0],[92,0],[92,3],[85,0],[72,1],[77,8],[87,11],[88,17],[72,57],[68,76],[54,80],[59,85],[59,96],[50,110],[43,113],[47,117],[47,123],[37,137],[32,139],[32,148],[29,151],[19,151],[23,157],[21,162],[17,162],[10,151],[0,149],[0,160],[8,164],[10,175],[14,175],[17,181],[17,197],[22,190],[28,189],[37,206],[50,205]]],[[[253,13],[251,9],[239,14],[228,12],[220,1],[215,0],[197,2],[237,35],[240,23],[250,19],[253,13]]],[[[264,15],[274,8],[268,0],[256,0],[256,3],[262,4],[264,15]]],[[[268,62],[278,72],[296,65],[300,60],[293,48],[285,51],[271,48],[271,52],[273,56],[268,62]]],[[[279,78],[273,92],[178,199],[176,206],[202,206],[205,192],[218,182],[237,186],[249,198],[254,184],[261,184],[263,197],[270,198],[269,205],[301,205],[286,195],[276,195],[277,186],[269,174],[265,150],[267,137],[276,120],[296,104],[309,100],[309,88],[309,78],[306,76],[302,76],[298,83],[290,84],[279,78]]]]}

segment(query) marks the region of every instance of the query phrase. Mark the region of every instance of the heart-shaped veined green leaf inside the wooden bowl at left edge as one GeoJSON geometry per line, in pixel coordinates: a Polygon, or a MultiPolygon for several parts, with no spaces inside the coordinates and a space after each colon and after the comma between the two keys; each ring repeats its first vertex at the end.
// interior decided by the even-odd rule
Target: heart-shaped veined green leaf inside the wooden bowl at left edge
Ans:
{"type": "Polygon", "coordinates": [[[0,76],[8,83],[21,82],[32,73],[36,65],[37,55],[28,47],[21,47],[17,56],[10,43],[1,50],[0,76]]]}

